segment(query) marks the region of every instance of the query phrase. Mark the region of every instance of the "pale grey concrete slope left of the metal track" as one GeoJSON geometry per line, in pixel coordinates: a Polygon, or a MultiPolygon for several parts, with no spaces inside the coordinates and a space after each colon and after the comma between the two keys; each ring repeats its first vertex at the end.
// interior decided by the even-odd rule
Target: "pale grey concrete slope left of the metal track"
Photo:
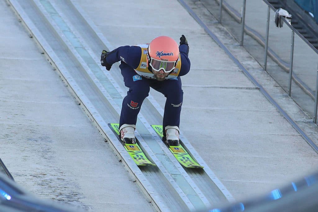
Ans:
{"type": "Polygon", "coordinates": [[[5,1],[0,13],[0,157],[17,184],[88,211],[153,211],[5,1]]]}

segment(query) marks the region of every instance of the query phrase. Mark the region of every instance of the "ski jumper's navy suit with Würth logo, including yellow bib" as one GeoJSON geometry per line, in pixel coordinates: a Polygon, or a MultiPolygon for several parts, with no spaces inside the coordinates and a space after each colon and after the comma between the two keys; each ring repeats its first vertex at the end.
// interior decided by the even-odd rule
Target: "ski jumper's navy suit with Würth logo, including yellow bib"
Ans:
{"type": "Polygon", "coordinates": [[[108,64],[121,61],[119,65],[125,86],[129,88],[123,99],[119,127],[123,124],[135,125],[143,100],[149,95],[150,87],[161,92],[167,99],[164,107],[163,129],[166,126],[180,125],[180,113],[183,102],[183,91],[180,76],[190,71],[188,58],[189,47],[179,46],[179,60],[176,68],[163,81],[155,79],[148,69],[148,44],[137,46],[121,46],[107,54],[108,64]]]}

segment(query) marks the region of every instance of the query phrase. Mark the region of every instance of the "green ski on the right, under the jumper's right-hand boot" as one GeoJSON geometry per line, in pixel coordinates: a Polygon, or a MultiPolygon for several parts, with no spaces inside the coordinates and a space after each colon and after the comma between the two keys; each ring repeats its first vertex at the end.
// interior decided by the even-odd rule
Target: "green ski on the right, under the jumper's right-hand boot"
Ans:
{"type": "MultiPolygon", "coordinates": [[[[152,128],[156,131],[156,133],[162,138],[162,125],[151,125],[152,128]]],[[[176,157],[179,163],[186,168],[204,168],[200,166],[190,154],[183,148],[180,144],[179,146],[169,146],[170,152],[176,157]]]]}

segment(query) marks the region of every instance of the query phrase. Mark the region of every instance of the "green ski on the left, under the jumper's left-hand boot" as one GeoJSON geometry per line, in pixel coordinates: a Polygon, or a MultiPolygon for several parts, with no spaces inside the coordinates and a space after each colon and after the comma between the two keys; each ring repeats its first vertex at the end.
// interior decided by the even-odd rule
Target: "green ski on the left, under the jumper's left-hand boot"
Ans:
{"type": "MultiPolygon", "coordinates": [[[[111,124],[108,124],[108,126],[117,135],[118,140],[120,140],[118,137],[119,124],[111,123],[111,124]]],[[[120,140],[120,142],[121,142],[121,140],[120,140]]],[[[137,166],[156,166],[156,164],[153,164],[151,161],[149,161],[149,159],[146,157],[146,155],[143,153],[142,149],[139,147],[139,145],[137,143],[124,144],[123,146],[125,147],[128,154],[131,156],[131,158],[135,161],[137,166]]]]}

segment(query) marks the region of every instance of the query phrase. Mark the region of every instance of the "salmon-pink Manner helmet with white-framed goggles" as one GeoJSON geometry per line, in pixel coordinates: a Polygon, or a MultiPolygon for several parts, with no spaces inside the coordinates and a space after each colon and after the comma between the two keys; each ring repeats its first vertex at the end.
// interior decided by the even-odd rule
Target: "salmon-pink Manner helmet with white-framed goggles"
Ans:
{"type": "Polygon", "coordinates": [[[159,36],[150,42],[147,59],[152,70],[171,72],[176,68],[179,59],[179,46],[174,39],[168,36],[159,36]]]}

